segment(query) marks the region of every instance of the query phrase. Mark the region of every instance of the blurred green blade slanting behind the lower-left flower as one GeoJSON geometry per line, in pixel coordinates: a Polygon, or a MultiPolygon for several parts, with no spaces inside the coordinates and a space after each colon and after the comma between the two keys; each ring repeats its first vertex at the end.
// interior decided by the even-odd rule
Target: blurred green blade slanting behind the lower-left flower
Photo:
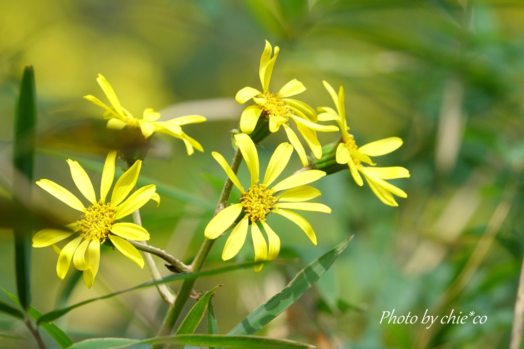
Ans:
{"type": "MultiPolygon", "coordinates": [[[[71,160],[78,161],[84,169],[89,169],[95,172],[102,173],[104,169],[104,164],[101,162],[80,158],[78,156],[69,156],[61,152],[48,150],[48,149],[38,148],[37,151],[40,152],[41,154],[49,155],[49,156],[56,157],[59,159],[64,159],[64,160],[71,159],[71,160]]],[[[115,178],[119,178],[120,176],[122,176],[123,173],[124,171],[122,169],[116,168],[115,169],[115,178]]],[[[180,202],[193,203],[195,205],[199,205],[201,208],[208,210],[208,211],[215,210],[215,204],[212,203],[211,201],[201,199],[199,197],[196,197],[195,194],[189,193],[187,191],[184,191],[182,189],[179,189],[173,186],[169,186],[169,184],[158,182],[157,180],[149,178],[147,176],[140,175],[136,184],[138,187],[147,186],[149,184],[155,184],[155,186],[157,187],[157,193],[159,195],[164,195],[165,197],[168,197],[170,199],[177,200],[180,202]]]]}

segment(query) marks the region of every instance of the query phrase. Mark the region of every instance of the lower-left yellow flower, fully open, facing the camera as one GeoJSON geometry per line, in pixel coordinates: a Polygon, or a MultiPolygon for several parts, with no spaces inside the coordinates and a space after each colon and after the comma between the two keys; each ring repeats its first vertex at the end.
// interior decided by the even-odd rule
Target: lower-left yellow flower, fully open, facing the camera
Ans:
{"type": "Polygon", "coordinates": [[[80,192],[90,205],[87,207],[67,189],[59,186],[48,179],[42,179],[38,186],[43,190],[83,213],[81,220],[68,225],[70,230],[61,231],[55,229],[44,229],[33,237],[33,247],[53,246],[59,254],[57,263],[57,275],[64,279],[69,270],[71,259],[78,270],[83,270],[84,283],[91,288],[99,269],[100,245],[107,238],[111,243],[126,256],[134,261],[140,268],[144,267],[144,259],[138,250],[128,243],[126,239],[134,241],[149,240],[149,233],[141,226],[134,223],[117,223],[117,220],[132,214],[141,208],[149,200],[155,200],[160,204],[160,197],[156,193],[156,186],[150,184],[136,190],[126,199],[127,195],[135,188],[138,173],[142,162],[136,161],[115,184],[111,200],[106,202],[115,174],[116,151],[111,151],[105,160],[102,182],[100,184],[100,200],[96,200],[93,184],[77,161],[67,160],[71,169],[71,176],[80,192]],[[126,200],[124,200],[126,199],[126,200]],[[80,236],[74,238],[60,250],[54,244],[80,231],[80,236]]]}

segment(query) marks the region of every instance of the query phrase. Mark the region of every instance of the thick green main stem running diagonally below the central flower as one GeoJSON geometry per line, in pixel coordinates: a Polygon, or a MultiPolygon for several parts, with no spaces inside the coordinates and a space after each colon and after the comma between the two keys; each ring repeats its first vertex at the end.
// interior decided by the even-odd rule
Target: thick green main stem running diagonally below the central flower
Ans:
{"type": "MultiPolygon", "coordinates": [[[[240,167],[241,163],[242,153],[240,149],[237,149],[231,163],[231,169],[235,174],[238,172],[238,168],[240,167]]],[[[219,203],[216,205],[215,215],[226,208],[227,201],[231,195],[231,189],[233,189],[233,182],[231,179],[227,178],[224,183],[224,188],[220,193],[219,203]]],[[[191,263],[193,271],[200,271],[200,269],[202,269],[202,266],[204,265],[205,260],[208,258],[214,243],[215,240],[204,239],[199,252],[196,254],[193,263],[191,263]]],[[[178,318],[180,317],[180,313],[185,306],[185,303],[188,301],[189,296],[191,295],[195,281],[196,279],[183,281],[180,291],[178,291],[177,299],[174,301],[173,306],[169,307],[166,317],[162,322],[162,326],[160,327],[160,330],[158,330],[157,336],[166,336],[171,334],[174,325],[176,324],[178,318]]],[[[164,344],[154,344],[151,346],[151,349],[162,349],[163,347],[164,344]]]]}

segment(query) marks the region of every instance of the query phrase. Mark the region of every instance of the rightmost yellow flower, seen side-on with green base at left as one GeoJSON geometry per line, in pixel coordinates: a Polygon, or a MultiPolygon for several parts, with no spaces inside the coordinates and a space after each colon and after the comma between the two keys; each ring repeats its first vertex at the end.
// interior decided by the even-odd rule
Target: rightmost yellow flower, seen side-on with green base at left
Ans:
{"type": "Polygon", "coordinates": [[[395,194],[400,198],[407,198],[408,195],[403,190],[386,182],[385,179],[408,178],[410,177],[409,171],[399,166],[368,167],[362,165],[362,163],[365,162],[371,166],[375,166],[376,164],[373,163],[369,157],[385,155],[397,150],[403,143],[402,139],[398,137],[389,137],[358,147],[353,135],[347,132],[350,128],[347,127],[346,123],[344,89],[340,86],[339,94],[337,95],[328,82],[323,81],[323,83],[326,90],[330,93],[337,111],[334,111],[330,107],[320,107],[319,111],[322,113],[318,115],[318,119],[319,121],[335,120],[340,126],[342,139],[336,149],[336,162],[347,163],[353,179],[359,186],[364,184],[362,177],[360,176],[360,173],[362,173],[369,184],[369,187],[373,190],[375,195],[377,195],[380,201],[386,205],[398,206],[398,203],[395,201],[392,194],[395,194]]]}

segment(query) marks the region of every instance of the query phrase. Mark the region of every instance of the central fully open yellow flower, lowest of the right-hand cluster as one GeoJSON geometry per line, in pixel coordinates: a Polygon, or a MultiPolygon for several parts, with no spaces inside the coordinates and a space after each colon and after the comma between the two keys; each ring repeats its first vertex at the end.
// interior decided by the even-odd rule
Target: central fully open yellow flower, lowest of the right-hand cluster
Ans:
{"type": "MultiPolygon", "coordinates": [[[[222,252],[222,259],[227,260],[233,258],[242,248],[246,240],[249,223],[251,223],[251,236],[255,247],[255,261],[274,259],[280,251],[280,239],[266,223],[266,216],[274,212],[296,223],[302,228],[305,234],[308,235],[313,244],[316,245],[316,236],[311,224],[301,215],[288,211],[287,209],[331,213],[331,209],[326,205],[303,202],[321,195],[319,190],[310,186],[304,186],[304,184],[324,177],[325,172],[319,170],[299,172],[278,182],[274,187],[269,188],[271,183],[277,179],[286,167],[293,152],[293,147],[289,143],[282,143],[277,147],[269,160],[263,182],[258,183],[258,154],[253,140],[246,134],[235,135],[235,139],[236,145],[242,151],[247,168],[251,174],[251,182],[247,191],[244,191],[244,187],[242,187],[224,157],[215,151],[212,153],[215,160],[219,162],[233,184],[241,191],[242,197],[239,203],[228,206],[213,217],[208,226],[205,227],[205,237],[208,239],[216,239],[244,212],[245,215],[227,238],[226,245],[222,252]],[[286,191],[280,192],[282,190],[286,191]],[[269,249],[257,222],[260,222],[266,231],[269,249]]],[[[263,266],[263,264],[257,265],[255,271],[260,271],[263,266]]]]}

